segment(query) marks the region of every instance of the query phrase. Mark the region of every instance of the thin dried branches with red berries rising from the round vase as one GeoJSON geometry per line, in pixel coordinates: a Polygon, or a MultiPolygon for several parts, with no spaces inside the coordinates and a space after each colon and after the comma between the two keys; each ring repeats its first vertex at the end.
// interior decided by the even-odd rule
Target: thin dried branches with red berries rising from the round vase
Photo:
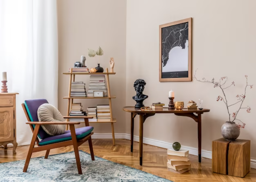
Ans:
{"type": "Polygon", "coordinates": [[[205,78],[203,78],[202,80],[199,80],[199,79],[197,79],[196,78],[196,71],[195,71],[195,75],[194,75],[194,77],[193,77],[193,79],[195,79],[196,81],[198,81],[198,82],[206,82],[206,83],[212,83],[212,84],[214,84],[214,88],[216,88],[216,87],[219,87],[219,88],[221,88],[221,91],[222,91],[222,93],[223,93],[223,96],[218,96],[217,97],[217,101],[223,101],[224,103],[225,103],[225,105],[226,105],[226,108],[227,108],[227,113],[229,114],[229,122],[232,122],[232,123],[234,123],[234,120],[238,120],[238,121],[240,121],[242,124],[238,124],[238,128],[240,129],[240,128],[244,128],[245,127],[245,123],[243,123],[240,119],[237,119],[237,114],[238,114],[238,112],[240,111],[240,109],[246,109],[246,111],[249,113],[249,112],[251,112],[251,107],[249,107],[249,106],[247,106],[247,107],[242,107],[242,104],[243,104],[243,102],[244,102],[244,100],[245,100],[245,94],[246,94],[246,88],[247,87],[250,87],[250,88],[252,88],[252,86],[253,85],[249,85],[248,84],[248,79],[247,79],[247,75],[245,75],[245,78],[246,78],[246,86],[245,86],[245,90],[244,90],[244,94],[241,94],[241,95],[237,95],[236,97],[237,97],[237,102],[236,103],[233,103],[233,104],[228,104],[228,102],[227,102],[227,98],[226,98],[226,94],[225,94],[225,89],[227,89],[227,88],[229,88],[229,87],[231,87],[231,86],[235,86],[235,82],[231,82],[231,84],[229,84],[229,86],[225,86],[225,84],[226,84],[226,82],[227,82],[227,76],[224,76],[224,77],[221,77],[218,81],[216,81],[214,78],[211,80],[211,81],[208,81],[208,80],[206,80],[205,78]],[[239,108],[238,108],[238,110],[236,111],[236,112],[233,112],[233,113],[231,113],[230,112],[230,107],[231,106],[234,106],[234,105],[236,105],[236,104],[239,104],[239,108]]]}

